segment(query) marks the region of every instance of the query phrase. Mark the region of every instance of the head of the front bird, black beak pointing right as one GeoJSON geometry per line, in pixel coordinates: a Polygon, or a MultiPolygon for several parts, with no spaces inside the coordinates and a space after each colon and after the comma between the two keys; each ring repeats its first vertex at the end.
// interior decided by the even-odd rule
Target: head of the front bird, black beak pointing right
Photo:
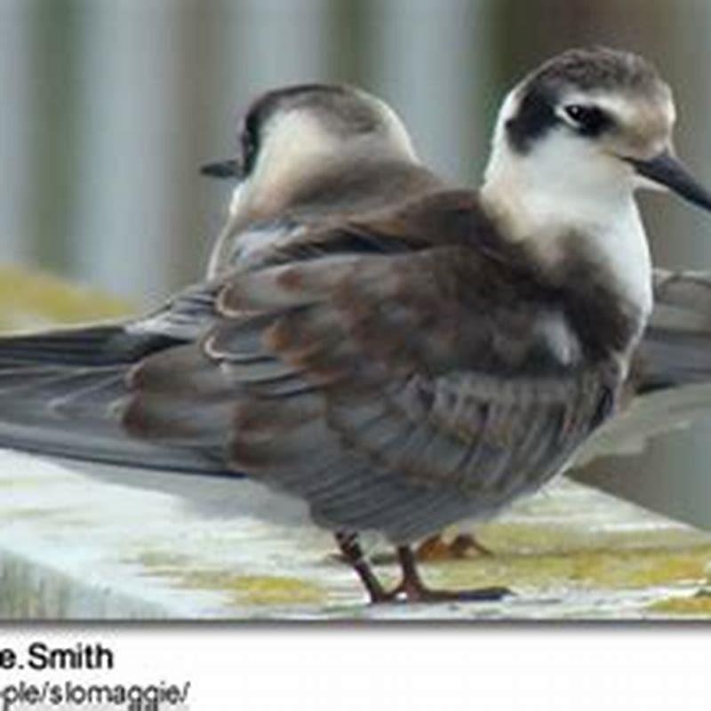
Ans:
{"type": "Polygon", "coordinates": [[[507,96],[486,183],[558,198],[668,188],[711,209],[711,194],[674,155],[672,92],[641,57],[603,47],[563,52],[507,96]]]}

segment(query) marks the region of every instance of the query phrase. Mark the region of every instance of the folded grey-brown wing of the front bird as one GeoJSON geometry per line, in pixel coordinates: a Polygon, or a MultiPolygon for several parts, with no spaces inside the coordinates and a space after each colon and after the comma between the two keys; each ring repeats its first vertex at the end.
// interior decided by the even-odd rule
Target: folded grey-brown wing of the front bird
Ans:
{"type": "Polygon", "coordinates": [[[370,249],[340,253],[368,226],[338,229],[225,277],[204,339],[132,372],[132,435],[212,447],[327,526],[410,540],[537,488],[611,412],[611,364],[584,362],[495,249],[382,249],[373,223],[370,249]]]}

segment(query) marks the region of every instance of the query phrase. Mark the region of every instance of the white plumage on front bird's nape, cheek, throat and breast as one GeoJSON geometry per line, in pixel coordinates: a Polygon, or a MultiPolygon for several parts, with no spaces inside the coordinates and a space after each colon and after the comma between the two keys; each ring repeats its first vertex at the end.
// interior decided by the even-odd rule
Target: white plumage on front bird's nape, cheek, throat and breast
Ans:
{"type": "Polygon", "coordinates": [[[583,241],[619,296],[646,319],[651,257],[627,166],[575,137],[544,138],[519,155],[507,145],[503,123],[481,190],[484,207],[506,236],[531,244],[551,267],[562,264],[571,238],[583,241]]]}

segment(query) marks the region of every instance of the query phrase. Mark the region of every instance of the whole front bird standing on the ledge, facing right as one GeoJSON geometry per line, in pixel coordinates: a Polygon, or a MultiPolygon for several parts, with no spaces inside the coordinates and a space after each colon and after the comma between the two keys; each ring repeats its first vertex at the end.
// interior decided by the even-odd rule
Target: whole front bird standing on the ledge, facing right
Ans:
{"type": "MultiPolygon", "coordinates": [[[[428,590],[410,544],[536,491],[618,407],[651,312],[635,188],[711,207],[671,156],[671,94],[634,55],[566,52],[508,95],[478,194],[394,155],[418,188],[353,210],[361,174],[334,168],[326,190],[296,186],[300,205],[346,205],[320,216],[284,211],[292,158],[260,156],[321,163],[342,124],[284,100],[245,124],[239,199],[250,184],[271,197],[210,281],[134,324],[0,343],[0,441],[242,472],[305,499],[372,601],[499,597],[428,590]],[[392,591],[364,530],[396,546],[392,591]]],[[[348,130],[371,130],[361,118],[348,130]]]]}

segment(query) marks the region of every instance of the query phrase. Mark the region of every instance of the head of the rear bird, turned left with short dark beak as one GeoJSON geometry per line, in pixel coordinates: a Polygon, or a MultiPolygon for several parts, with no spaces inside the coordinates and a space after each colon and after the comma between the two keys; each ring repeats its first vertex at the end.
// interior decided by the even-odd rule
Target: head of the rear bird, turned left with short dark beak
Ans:
{"type": "Polygon", "coordinates": [[[341,84],[298,84],[263,94],[244,114],[238,144],[236,160],[203,168],[239,181],[233,214],[247,204],[274,212],[309,181],[362,161],[418,162],[395,111],[341,84]]]}

